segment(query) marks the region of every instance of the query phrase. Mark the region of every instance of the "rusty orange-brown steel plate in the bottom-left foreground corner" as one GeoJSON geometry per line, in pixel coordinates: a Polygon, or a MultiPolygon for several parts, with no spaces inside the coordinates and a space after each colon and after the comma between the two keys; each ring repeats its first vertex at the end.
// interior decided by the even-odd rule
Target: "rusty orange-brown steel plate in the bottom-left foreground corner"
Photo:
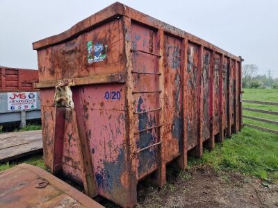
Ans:
{"type": "Polygon", "coordinates": [[[20,164],[0,172],[0,207],[102,207],[37,166],[20,164]]]}

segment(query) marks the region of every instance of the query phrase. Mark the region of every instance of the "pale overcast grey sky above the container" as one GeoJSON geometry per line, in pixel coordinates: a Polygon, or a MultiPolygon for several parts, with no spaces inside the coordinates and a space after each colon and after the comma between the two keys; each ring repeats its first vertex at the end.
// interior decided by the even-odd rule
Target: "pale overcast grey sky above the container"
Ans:
{"type": "MultiPolygon", "coordinates": [[[[0,65],[36,69],[32,42],[61,33],[115,1],[1,0],[0,65]]],[[[278,77],[278,0],[121,1],[241,55],[278,77]]]]}

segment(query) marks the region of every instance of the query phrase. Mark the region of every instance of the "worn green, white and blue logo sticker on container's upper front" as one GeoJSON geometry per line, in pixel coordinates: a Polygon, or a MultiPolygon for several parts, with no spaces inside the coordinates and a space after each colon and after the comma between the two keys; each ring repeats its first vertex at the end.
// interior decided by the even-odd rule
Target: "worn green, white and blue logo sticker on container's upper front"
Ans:
{"type": "Polygon", "coordinates": [[[102,62],[106,59],[108,45],[104,44],[93,44],[92,41],[88,41],[87,49],[88,49],[88,63],[91,64],[93,62],[102,62]]]}

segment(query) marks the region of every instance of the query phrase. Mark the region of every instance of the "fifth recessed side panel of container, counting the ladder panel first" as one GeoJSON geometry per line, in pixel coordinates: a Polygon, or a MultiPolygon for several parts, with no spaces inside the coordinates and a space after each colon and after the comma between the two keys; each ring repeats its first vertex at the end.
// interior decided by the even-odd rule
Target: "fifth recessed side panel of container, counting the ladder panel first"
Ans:
{"type": "Polygon", "coordinates": [[[213,82],[214,82],[214,102],[213,102],[213,112],[214,112],[214,134],[218,134],[220,132],[220,105],[219,105],[219,99],[220,99],[220,92],[219,92],[219,73],[220,73],[220,55],[218,53],[215,53],[215,59],[213,64],[213,82]]]}

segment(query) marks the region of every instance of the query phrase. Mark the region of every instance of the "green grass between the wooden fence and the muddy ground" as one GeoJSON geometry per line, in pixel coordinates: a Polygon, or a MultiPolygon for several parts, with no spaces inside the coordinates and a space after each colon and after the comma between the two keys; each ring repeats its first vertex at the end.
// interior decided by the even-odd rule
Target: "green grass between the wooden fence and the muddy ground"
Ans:
{"type": "Polygon", "coordinates": [[[217,144],[214,150],[205,150],[202,158],[190,158],[189,165],[208,164],[215,171],[236,171],[278,180],[277,148],[277,135],[244,127],[223,144],[217,144]]]}

